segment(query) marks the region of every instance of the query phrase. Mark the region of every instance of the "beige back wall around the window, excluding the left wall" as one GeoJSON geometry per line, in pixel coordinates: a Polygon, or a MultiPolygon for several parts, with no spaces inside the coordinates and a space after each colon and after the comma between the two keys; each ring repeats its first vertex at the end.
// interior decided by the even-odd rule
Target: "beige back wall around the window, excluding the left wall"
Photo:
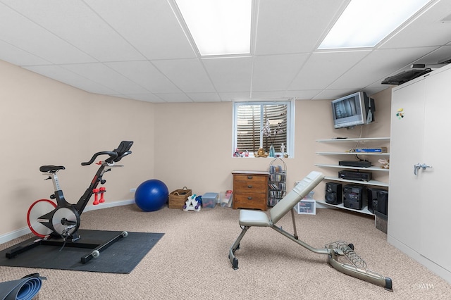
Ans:
{"type": "MultiPolygon", "coordinates": [[[[311,170],[330,175],[338,171],[314,166],[321,160],[315,152],[322,145],[316,139],[359,137],[361,129],[362,137],[388,137],[390,97],[390,90],[373,95],[377,122],[353,130],[333,128],[330,100],[296,101],[295,154],[284,160],[288,187],[293,187],[295,181],[311,170]]],[[[233,189],[232,170],[267,170],[273,160],[232,156],[233,104],[230,102],[156,104],[155,111],[155,174],[170,190],[187,186],[195,194],[223,192],[233,189]]],[[[323,199],[323,185],[315,192],[323,199]]]]}

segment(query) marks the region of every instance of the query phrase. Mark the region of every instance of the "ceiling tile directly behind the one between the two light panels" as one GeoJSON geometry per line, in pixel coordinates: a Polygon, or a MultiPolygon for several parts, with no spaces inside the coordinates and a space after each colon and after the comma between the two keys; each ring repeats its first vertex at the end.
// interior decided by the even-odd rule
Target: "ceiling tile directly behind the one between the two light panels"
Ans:
{"type": "Polygon", "coordinates": [[[287,89],[307,58],[307,54],[256,56],[252,75],[252,91],[287,89]]]}

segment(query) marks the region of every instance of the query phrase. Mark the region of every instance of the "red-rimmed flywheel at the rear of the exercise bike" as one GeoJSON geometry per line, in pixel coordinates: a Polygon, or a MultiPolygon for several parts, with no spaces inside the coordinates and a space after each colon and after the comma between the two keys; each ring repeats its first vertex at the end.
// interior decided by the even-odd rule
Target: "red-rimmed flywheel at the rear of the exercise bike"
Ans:
{"type": "Polygon", "coordinates": [[[42,225],[38,219],[42,217],[42,215],[50,213],[55,208],[56,203],[49,199],[39,199],[28,208],[27,223],[34,235],[37,237],[47,237],[47,235],[50,235],[51,232],[53,232],[49,227],[42,225]]]}

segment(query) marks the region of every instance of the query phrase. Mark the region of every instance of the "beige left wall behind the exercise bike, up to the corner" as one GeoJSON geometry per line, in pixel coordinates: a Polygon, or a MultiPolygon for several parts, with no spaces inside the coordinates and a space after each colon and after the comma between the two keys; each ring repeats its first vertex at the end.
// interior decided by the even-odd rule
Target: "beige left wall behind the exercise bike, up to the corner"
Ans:
{"type": "Polygon", "coordinates": [[[26,227],[28,207],[53,194],[40,165],[58,173],[66,199],[75,203],[94,176],[81,166],[123,139],[135,142],[124,168],[106,173],[106,200],[132,199],[130,187],[154,176],[154,105],[82,92],[0,61],[0,235],[26,227]]]}

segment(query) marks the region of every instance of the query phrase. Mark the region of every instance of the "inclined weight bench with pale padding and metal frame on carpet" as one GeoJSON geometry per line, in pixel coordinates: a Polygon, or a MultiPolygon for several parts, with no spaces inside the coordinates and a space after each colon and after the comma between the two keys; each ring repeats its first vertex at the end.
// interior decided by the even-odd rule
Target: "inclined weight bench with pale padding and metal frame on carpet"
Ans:
{"type": "Polygon", "coordinates": [[[304,248],[307,248],[314,253],[326,254],[328,256],[328,264],[336,270],[347,275],[357,277],[361,280],[365,280],[374,285],[385,287],[385,289],[393,292],[392,280],[388,277],[379,275],[378,273],[366,270],[366,263],[354,252],[354,245],[339,241],[328,244],[324,248],[314,248],[298,239],[294,213],[295,205],[301,201],[304,196],[307,196],[307,194],[309,194],[309,192],[311,192],[311,190],[314,189],[314,187],[316,187],[316,185],[318,185],[323,179],[324,175],[322,173],[312,171],[309,175],[304,177],[304,179],[300,181],[295,188],[291,190],[291,192],[283,197],[278,204],[269,210],[269,215],[264,211],[240,210],[239,224],[242,231],[230,247],[228,253],[228,258],[230,263],[232,263],[233,268],[235,270],[238,268],[238,260],[235,257],[235,251],[240,249],[240,242],[245,236],[247,230],[249,230],[252,226],[270,227],[279,232],[281,235],[288,237],[293,242],[304,246],[304,248]],[[289,211],[291,211],[293,221],[293,235],[283,230],[282,227],[276,226],[278,220],[283,218],[283,216],[289,211]],[[352,265],[349,263],[340,263],[338,261],[339,256],[347,257],[352,265]]]}

